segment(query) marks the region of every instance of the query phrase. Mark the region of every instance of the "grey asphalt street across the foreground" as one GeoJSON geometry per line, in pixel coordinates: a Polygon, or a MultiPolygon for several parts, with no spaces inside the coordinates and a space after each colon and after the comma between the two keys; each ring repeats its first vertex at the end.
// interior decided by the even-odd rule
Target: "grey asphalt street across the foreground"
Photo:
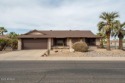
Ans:
{"type": "Polygon", "coordinates": [[[0,83],[125,83],[125,62],[0,61],[0,83]]]}

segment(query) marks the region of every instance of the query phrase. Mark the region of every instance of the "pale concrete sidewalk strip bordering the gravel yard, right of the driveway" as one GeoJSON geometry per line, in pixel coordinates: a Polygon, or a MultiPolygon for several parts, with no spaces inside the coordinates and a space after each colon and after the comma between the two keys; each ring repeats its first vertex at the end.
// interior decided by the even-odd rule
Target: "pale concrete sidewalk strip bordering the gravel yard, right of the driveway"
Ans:
{"type": "Polygon", "coordinates": [[[43,57],[45,61],[125,61],[125,57],[43,57]]]}

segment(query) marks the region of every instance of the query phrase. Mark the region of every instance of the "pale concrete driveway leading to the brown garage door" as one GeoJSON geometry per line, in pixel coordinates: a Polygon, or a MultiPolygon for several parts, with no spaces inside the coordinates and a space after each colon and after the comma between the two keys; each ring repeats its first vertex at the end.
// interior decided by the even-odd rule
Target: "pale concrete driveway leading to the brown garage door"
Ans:
{"type": "Polygon", "coordinates": [[[46,50],[21,50],[0,54],[0,60],[37,60],[46,50]]]}

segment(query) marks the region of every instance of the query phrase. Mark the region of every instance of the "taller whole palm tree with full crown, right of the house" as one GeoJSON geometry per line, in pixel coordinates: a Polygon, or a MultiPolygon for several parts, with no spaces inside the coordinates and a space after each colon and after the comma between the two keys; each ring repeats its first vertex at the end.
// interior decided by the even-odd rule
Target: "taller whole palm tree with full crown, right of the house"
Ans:
{"type": "Polygon", "coordinates": [[[111,31],[114,28],[114,22],[117,17],[119,17],[117,12],[111,12],[111,13],[103,12],[100,15],[102,21],[98,23],[98,30],[104,32],[104,34],[106,35],[107,50],[110,50],[110,35],[111,31]]]}

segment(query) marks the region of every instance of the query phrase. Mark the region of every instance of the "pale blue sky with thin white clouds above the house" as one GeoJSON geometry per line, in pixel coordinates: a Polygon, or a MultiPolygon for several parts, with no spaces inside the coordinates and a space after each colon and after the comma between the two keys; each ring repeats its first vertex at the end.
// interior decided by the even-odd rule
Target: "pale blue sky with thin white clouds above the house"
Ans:
{"type": "Polygon", "coordinates": [[[91,30],[97,33],[102,12],[119,12],[125,21],[125,0],[0,0],[0,26],[8,31],[91,30]]]}

